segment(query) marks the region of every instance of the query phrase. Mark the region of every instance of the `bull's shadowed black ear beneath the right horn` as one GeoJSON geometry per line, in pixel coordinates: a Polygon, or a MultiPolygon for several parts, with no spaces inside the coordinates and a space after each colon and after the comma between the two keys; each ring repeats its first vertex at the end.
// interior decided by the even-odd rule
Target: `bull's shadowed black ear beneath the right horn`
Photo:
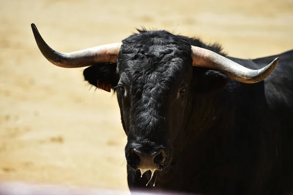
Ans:
{"type": "Polygon", "coordinates": [[[228,77],[216,70],[193,67],[193,87],[199,93],[212,93],[226,87],[228,77]]]}

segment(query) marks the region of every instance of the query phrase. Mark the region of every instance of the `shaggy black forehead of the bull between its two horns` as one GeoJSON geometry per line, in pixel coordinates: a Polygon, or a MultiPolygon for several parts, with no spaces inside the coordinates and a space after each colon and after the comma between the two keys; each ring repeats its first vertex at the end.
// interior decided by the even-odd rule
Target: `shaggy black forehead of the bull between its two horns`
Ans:
{"type": "Polygon", "coordinates": [[[167,31],[140,31],[123,40],[118,72],[131,84],[170,83],[191,65],[191,46],[185,37],[167,31]]]}

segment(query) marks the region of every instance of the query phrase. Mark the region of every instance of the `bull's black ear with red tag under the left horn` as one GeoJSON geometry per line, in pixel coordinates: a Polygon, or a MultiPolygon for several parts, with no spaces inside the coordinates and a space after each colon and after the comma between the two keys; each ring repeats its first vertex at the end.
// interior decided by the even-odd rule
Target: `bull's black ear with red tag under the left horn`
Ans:
{"type": "Polygon", "coordinates": [[[92,65],[84,69],[84,80],[90,85],[110,92],[118,85],[117,64],[92,65]]]}

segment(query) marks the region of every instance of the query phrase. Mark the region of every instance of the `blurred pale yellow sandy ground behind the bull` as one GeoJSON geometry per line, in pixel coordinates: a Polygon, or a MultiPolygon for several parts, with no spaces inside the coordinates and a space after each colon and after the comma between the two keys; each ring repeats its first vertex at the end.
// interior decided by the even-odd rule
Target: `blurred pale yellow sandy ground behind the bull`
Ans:
{"type": "Polygon", "coordinates": [[[85,83],[84,68],[51,65],[32,22],[60,52],[141,26],[221,43],[232,57],[293,49],[293,0],[0,0],[0,181],[128,189],[116,96],[85,83]]]}

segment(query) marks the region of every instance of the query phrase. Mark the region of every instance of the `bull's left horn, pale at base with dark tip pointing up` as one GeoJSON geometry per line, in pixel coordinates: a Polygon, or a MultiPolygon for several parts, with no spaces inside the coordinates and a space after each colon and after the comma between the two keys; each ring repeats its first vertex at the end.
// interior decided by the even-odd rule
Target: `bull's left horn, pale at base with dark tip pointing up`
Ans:
{"type": "Polygon", "coordinates": [[[31,24],[35,40],[43,56],[53,65],[64,68],[78,68],[94,63],[116,63],[122,43],[104,44],[80,51],[60,53],[52,49],[42,39],[36,25],[31,24]]]}

